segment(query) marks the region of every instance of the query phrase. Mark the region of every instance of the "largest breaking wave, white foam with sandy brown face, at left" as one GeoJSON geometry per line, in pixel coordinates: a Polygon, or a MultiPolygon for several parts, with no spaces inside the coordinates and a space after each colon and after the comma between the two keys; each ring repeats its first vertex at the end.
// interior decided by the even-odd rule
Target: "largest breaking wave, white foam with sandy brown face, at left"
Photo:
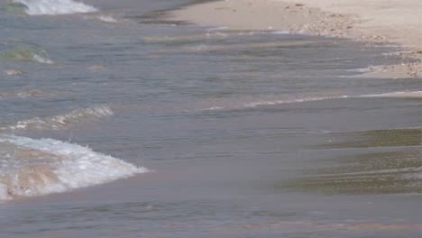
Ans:
{"type": "Polygon", "coordinates": [[[147,171],[78,144],[0,135],[0,200],[65,192],[147,171]]]}

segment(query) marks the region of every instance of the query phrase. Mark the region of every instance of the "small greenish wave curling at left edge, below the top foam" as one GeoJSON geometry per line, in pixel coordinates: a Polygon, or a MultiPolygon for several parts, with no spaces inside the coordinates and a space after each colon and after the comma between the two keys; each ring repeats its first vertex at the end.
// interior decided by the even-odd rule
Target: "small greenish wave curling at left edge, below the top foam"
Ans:
{"type": "Polygon", "coordinates": [[[32,46],[18,46],[13,49],[0,51],[0,59],[32,61],[42,64],[53,63],[53,61],[47,57],[47,52],[45,50],[32,46]]]}

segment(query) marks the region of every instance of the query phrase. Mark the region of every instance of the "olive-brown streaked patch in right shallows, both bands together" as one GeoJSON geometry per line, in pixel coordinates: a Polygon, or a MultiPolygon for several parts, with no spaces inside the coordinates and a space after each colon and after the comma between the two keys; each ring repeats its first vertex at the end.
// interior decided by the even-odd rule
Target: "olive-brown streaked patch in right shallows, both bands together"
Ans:
{"type": "Polygon", "coordinates": [[[276,188],[327,194],[422,193],[422,131],[390,129],[330,133],[318,151],[344,151],[313,162],[322,169],[305,169],[301,178],[276,184],[276,188]],[[336,142],[332,142],[336,141],[336,142]]]}

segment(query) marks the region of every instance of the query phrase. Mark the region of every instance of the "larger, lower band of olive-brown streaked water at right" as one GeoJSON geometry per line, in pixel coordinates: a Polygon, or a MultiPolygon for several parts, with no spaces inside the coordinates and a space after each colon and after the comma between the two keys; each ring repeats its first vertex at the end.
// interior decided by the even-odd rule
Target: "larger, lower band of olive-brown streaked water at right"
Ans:
{"type": "Polygon", "coordinates": [[[420,156],[420,151],[391,151],[335,158],[336,167],[308,169],[308,176],[282,187],[346,195],[421,193],[420,156]]]}

